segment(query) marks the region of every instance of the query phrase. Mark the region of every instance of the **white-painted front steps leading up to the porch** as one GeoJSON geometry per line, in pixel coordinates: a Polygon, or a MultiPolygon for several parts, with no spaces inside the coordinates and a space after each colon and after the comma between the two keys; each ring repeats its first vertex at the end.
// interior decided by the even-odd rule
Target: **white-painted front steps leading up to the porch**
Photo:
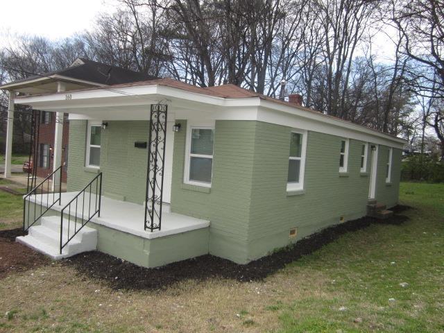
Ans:
{"type": "MultiPolygon", "coordinates": [[[[74,228],[78,230],[80,226],[80,223],[77,223],[75,226],[71,221],[68,228],[68,220],[64,219],[63,243],[68,239],[68,230],[69,237],[71,237],[74,234],[74,228]]],[[[29,228],[26,236],[17,237],[15,240],[52,259],[58,260],[77,255],[78,253],[96,250],[97,231],[85,225],[60,253],[60,217],[43,216],[40,225],[33,225],[29,228]]]]}

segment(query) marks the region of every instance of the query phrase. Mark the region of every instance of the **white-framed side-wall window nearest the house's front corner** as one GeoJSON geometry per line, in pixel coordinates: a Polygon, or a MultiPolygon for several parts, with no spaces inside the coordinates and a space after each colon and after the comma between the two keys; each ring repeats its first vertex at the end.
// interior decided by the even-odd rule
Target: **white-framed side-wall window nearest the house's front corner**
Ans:
{"type": "Polygon", "coordinates": [[[287,191],[303,189],[305,169],[305,149],[307,133],[293,131],[290,133],[289,172],[287,191]]]}

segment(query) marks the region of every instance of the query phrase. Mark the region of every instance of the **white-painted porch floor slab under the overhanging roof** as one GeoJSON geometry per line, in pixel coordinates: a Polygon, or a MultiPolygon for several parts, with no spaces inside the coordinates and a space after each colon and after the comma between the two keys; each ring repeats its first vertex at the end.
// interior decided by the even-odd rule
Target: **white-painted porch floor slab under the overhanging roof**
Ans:
{"type": "MultiPolygon", "coordinates": [[[[78,192],[65,192],[62,193],[62,204],[53,205],[52,210],[60,212],[69,201],[71,201],[78,192]]],[[[43,203],[46,205],[47,194],[37,194],[37,196],[30,196],[31,203],[43,203]]],[[[58,194],[55,194],[58,198],[58,194]]],[[[53,194],[49,194],[49,200],[53,198],[53,194]]],[[[95,194],[92,195],[92,207],[95,205],[95,194]]],[[[88,194],[85,196],[85,214],[87,214],[89,205],[88,194]]],[[[71,205],[71,216],[75,216],[76,204],[71,205]]],[[[77,217],[81,218],[83,210],[83,200],[80,196],[77,205],[77,217]]],[[[94,212],[94,209],[92,209],[94,212]]],[[[65,219],[67,218],[68,210],[65,210],[65,219]]],[[[71,218],[71,221],[72,220],[71,218]]],[[[101,216],[94,216],[91,219],[92,222],[105,225],[108,228],[128,232],[139,237],[146,239],[155,239],[158,237],[165,237],[171,234],[179,234],[181,232],[187,232],[191,230],[197,230],[201,228],[207,228],[210,225],[210,221],[203,219],[196,219],[191,216],[176,214],[165,210],[162,213],[162,229],[155,230],[153,232],[144,230],[144,206],[137,205],[135,203],[128,203],[126,201],[114,200],[105,196],[101,197],[101,216]]]]}

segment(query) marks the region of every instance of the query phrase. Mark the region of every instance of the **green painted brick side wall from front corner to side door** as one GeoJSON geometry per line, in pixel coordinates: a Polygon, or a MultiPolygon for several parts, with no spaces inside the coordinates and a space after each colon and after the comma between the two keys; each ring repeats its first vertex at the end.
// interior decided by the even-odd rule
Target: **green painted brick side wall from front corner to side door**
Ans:
{"type": "Polygon", "coordinates": [[[348,172],[340,174],[342,138],[308,132],[304,191],[291,196],[290,133],[291,128],[257,122],[248,260],[340,223],[341,216],[347,221],[366,215],[370,177],[360,172],[364,142],[350,139],[348,172]],[[296,238],[289,238],[291,228],[297,228],[296,238]]]}

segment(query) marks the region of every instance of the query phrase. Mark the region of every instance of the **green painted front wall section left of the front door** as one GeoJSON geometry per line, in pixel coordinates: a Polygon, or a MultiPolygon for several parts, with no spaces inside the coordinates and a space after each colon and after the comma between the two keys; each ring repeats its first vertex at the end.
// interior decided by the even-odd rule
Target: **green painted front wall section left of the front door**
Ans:
{"type": "MultiPolygon", "coordinates": [[[[85,167],[87,121],[70,121],[68,191],[82,189],[99,170],[85,167]]],[[[134,142],[148,141],[148,121],[108,121],[101,133],[102,192],[117,200],[142,205],[146,191],[148,149],[134,142]]]]}

